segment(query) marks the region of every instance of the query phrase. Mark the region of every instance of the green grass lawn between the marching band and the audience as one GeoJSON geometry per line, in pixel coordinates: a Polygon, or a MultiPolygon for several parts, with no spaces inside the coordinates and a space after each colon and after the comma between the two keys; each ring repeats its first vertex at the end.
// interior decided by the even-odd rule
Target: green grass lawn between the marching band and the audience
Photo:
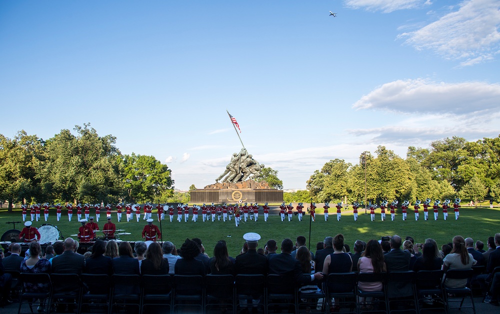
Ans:
{"type": "MultiPolygon", "coordinates": [[[[322,209],[321,209],[322,211],[322,209]]],[[[341,233],[344,235],[345,242],[352,248],[354,241],[363,240],[368,241],[370,239],[380,239],[381,236],[394,235],[397,234],[402,238],[406,236],[411,236],[415,239],[415,242],[421,243],[426,238],[433,238],[436,240],[439,247],[442,244],[451,242],[451,239],[455,235],[460,235],[464,238],[471,237],[476,240],[481,240],[486,243],[488,237],[493,236],[495,233],[500,232],[500,209],[494,208],[460,208],[460,218],[455,221],[453,209],[448,210],[448,220],[444,221],[441,211],[439,211],[439,218],[437,221],[433,220],[433,214],[429,212],[428,221],[423,220],[423,212],[420,211],[420,219],[418,221],[414,220],[413,211],[408,210],[408,216],[406,221],[402,221],[400,210],[396,212],[395,221],[390,221],[390,214],[386,214],[386,221],[380,221],[379,209],[377,209],[376,221],[370,222],[370,216],[359,214],[358,221],[354,222],[352,218],[352,213],[350,211],[342,212],[342,219],[340,222],[336,220],[336,214],[330,209],[330,214],[328,221],[325,222],[323,215],[316,215],[316,222],[311,225],[311,236],[310,236],[310,247],[311,250],[315,251],[316,243],[322,241],[326,236],[334,237],[336,234],[341,233]]],[[[153,210],[155,212],[155,210],[153,210]]],[[[90,211],[91,215],[93,211],[90,211]]],[[[364,209],[360,209],[359,213],[364,213],[364,209]]],[[[153,214],[155,218],[156,214],[153,214]]],[[[27,217],[29,218],[29,212],[27,217]]],[[[102,230],[104,223],[106,222],[105,211],[101,214],[101,219],[99,222],[99,229],[102,230]]],[[[241,223],[239,227],[235,227],[234,220],[231,222],[205,222],[201,221],[201,215],[198,216],[198,222],[191,222],[191,216],[189,217],[189,222],[178,223],[176,221],[177,215],[174,215],[174,221],[170,223],[168,216],[166,220],[162,222],[161,227],[163,230],[163,240],[171,241],[177,248],[179,248],[186,238],[200,238],[203,241],[203,245],[206,249],[206,253],[209,256],[213,254],[213,247],[218,240],[225,240],[229,249],[229,255],[236,256],[241,250],[241,246],[244,243],[242,238],[244,233],[256,232],[262,237],[259,241],[259,246],[264,247],[265,242],[269,239],[274,239],[278,243],[284,238],[290,238],[295,241],[295,238],[299,235],[306,237],[309,241],[309,216],[305,215],[302,222],[297,220],[297,216],[293,216],[291,222],[285,221],[281,222],[279,215],[269,214],[269,220],[264,222],[263,214],[259,214],[259,219],[255,223],[254,221],[248,221],[247,223],[241,223]]],[[[141,231],[145,221],[142,220],[142,215],[140,222],[137,223],[133,220],[129,223],[126,222],[125,214],[122,215],[122,221],[120,223],[116,222],[116,214],[112,214],[113,223],[116,224],[116,229],[123,229],[125,232],[131,233],[131,235],[120,236],[123,241],[140,241],[141,231]]],[[[135,218],[135,215],[134,215],[135,218]]],[[[20,209],[14,209],[13,213],[7,213],[6,209],[0,209],[0,236],[9,229],[13,229],[11,224],[5,224],[11,221],[22,221],[20,209]]],[[[39,227],[44,224],[43,214],[41,214],[41,221],[33,222],[34,227],[39,227]]],[[[63,211],[62,219],[57,222],[55,219],[55,209],[51,209],[48,224],[56,226],[62,233],[64,238],[69,237],[71,234],[76,234],[78,232],[78,227],[80,223],[76,221],[76,214],[73,214],[73,220],[68,222],[66,211],[63,211]]],[[[158,225],[157,221],[154,224],[158,225]]],[[[16,224],[16,228],[21,230],[22,224],[16,224]]],[[[75,238],[75,237],[73,237],[75,238]]]]}

